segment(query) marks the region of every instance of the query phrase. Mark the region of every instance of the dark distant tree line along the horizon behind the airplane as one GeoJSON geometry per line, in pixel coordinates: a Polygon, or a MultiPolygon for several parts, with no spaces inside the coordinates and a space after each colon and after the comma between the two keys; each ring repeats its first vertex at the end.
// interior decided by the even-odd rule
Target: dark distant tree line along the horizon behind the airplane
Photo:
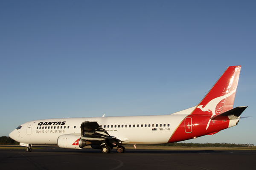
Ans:
{"type": "MultiPolygon", "coordinates": [[[[19,144],[10,137],[1,136],[0,144],[19,144]]],[[[156,144],[155,146],[171,146],[171,147],[253,147],[254,144],[228,144],[228,143],[169,143],[169,144],[156,144]]]]}

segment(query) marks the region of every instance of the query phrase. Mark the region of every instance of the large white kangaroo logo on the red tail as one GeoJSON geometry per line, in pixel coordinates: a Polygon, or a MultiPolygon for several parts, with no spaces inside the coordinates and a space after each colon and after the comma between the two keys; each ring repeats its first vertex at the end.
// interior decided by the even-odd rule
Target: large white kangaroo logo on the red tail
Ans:
{"type": "MultiPolygon", "coordinates": [[[[212,111],[212,116],[211,116],[211,118],[212,118],[216,114],[215,113],[215,109],[216,109],[218,103],[221,102],[221,100],[226,99],[227,97],[231,96],[235,91],[236,91],[236,89],[231,91],[227,95],[223,95],[223,96],[217,97],[215,99],[212,99],[211,101],[209,101],[209,103],[207,103],[207,105],[204,106],[204,108],[203,108],[203,105],[199,105],[197,108],[201,109],[201,111],[203,111],[203,112],[205,112],[205,111],[208,111],[208,112],[212,111]]],[[[207,124],[206,130],[208,129],[210,122],[211,122],[211,119],[209,119],[209,122],[207,124]]]]}

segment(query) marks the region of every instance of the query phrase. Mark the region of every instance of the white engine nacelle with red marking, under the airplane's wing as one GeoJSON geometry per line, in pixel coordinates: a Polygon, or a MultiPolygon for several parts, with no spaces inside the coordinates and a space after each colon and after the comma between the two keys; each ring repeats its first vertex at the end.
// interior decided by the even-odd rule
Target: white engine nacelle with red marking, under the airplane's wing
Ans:
{"type": "Polygon", "coordinates": [[[58,147],[61,147],[61,148],[81,149],[82,147],[79,146],[80,139],[81,139],[81,136],[61,135],[58,137],[57,144],[58,144],[58,147]]]}

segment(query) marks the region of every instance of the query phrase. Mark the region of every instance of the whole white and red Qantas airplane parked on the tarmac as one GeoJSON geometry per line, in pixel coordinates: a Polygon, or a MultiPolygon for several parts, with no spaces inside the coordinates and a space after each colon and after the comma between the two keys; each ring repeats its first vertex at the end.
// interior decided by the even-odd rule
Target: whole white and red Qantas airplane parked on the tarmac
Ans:
{"type": "Polygon", "coordinates": [[[247,106],[233,108],[241,66],[230,66],[198,105],[168,115],[41,119],[26,122],[9,136],[27,152],[32,144],[67,149],[90,145],[124,153],[125,144],[166,144],[213,135],[238,124],[247,106]]]}

